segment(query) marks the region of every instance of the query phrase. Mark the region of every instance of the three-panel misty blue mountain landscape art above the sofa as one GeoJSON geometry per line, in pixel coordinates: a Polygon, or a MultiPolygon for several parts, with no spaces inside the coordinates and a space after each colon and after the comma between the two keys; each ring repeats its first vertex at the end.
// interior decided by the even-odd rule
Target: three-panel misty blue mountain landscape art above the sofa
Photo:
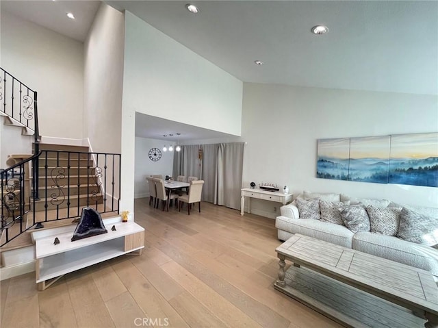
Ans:
{"type": "Polygon", "coordinates": [[[438,133],[318,140],[323,179],[438,187],[438,133]]]}

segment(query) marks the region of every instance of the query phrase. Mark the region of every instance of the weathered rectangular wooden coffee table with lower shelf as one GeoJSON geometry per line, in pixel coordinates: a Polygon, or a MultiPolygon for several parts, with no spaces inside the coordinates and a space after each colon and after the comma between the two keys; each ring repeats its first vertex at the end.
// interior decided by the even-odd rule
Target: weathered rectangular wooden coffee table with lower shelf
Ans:
{"type": "Polygon", "coordinates": [[[438,328],[438,288],[426,270],[298,234],[276,252],[274,287],[338,323],[438,328]],[[294,262],[287,271],[285,260],[294,262]]]}

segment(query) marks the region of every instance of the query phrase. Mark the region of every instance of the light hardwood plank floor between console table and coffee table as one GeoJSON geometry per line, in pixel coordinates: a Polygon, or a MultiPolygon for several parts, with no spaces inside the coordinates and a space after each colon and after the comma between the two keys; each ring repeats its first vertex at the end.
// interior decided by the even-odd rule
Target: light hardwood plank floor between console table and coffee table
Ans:
{"type": "Polygon", "coordinates": [[[1,281],[1,327],[341,327],[274,290],[274,220],[148,202],[135,203],[141,256],[70,273],[42,292],[34,273],[1,281]]]}

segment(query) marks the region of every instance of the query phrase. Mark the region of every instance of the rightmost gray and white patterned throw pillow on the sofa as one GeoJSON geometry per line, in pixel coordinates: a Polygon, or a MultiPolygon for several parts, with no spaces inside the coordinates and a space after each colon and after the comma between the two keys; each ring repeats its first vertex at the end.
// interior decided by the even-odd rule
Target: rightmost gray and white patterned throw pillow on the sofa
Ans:
{"type": "Polygon", "coordinates": [[[438,218],[431,218],[403,207],[397,237],[434,247],[438,244],[438,218]]]}

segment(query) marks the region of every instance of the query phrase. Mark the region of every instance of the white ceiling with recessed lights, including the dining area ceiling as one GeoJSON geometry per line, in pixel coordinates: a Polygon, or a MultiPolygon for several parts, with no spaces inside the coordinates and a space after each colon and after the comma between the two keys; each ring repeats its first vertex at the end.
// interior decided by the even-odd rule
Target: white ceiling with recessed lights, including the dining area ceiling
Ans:
{"type": "MultiPolygon", "coordinates": [[[[189,0],[105,2],[242,81],[438,94],[438,1],[192,1],[198,14],[185,9],[189,0]],[[329,33],[311,34],[317,24],[329,33]]],[[[99,3],[2,0],[1,10],[84,40],[99,3]],[[75,21],[65,18],[67,11],[75,21]]],[[[138,120],[145,125],[136,135],[147,138],[172,133],[157,128],[163,124],[174,132],[179,125],[151,116],[138,120]]],[[[218,137],[209,133],[203,138],[218,137]]]]}

